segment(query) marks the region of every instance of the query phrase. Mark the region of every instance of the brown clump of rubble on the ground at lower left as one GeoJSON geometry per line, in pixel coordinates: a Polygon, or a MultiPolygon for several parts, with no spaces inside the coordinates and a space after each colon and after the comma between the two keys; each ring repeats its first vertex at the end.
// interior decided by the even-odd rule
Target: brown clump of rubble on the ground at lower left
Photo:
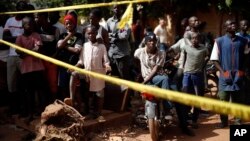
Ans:
{"type": "Polygon", "coordinates": [[[35,141],[81,141],[84,140],[84,117],[60,100],[48,105],[41,115],[35,141]]]}

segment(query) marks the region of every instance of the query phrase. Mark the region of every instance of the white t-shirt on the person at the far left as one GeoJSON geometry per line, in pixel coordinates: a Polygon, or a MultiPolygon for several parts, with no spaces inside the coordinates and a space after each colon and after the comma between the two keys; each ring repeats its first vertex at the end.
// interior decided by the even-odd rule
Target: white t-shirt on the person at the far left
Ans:
{"type": "MultiPolygon", "coordinates": [[[[11,35],[13,37],[17,37],[19,35],[22,35],[24,32],[22,23],[22,20],[16,20],[15,17],[11,17],[6,21],[4,30],[10,30],[11,35]]],[[[9,56],[18,56],[18,54],[16,53],[16,49],[10,47],[9,56]]]]}

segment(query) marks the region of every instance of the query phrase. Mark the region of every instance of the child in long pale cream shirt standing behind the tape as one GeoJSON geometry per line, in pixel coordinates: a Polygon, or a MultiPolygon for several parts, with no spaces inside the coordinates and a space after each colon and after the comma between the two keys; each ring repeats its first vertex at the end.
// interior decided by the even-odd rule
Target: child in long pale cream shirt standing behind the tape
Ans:
{"type": "MultiPolygon", "coordinates": [[[[97,28],[95,26],[89,26],[86,33],[89,41],[84,44],[76,66],[84,66],[86,70],[101,74],[111,71],[106,47],[104,44],[98,43],[96,39],[97,28]]],[[[75,73],[73,73],[73,75],[74,74],[75,73]]],[[[92,114],[91,116],[94,118],[97,118],[98,122],[105,122],[104,117],[101,115],[104,103],[105,81],[92,76],[85,76],[85,80],[89,83],[88,108],[90,108],[90,114],[92,114]]]]}

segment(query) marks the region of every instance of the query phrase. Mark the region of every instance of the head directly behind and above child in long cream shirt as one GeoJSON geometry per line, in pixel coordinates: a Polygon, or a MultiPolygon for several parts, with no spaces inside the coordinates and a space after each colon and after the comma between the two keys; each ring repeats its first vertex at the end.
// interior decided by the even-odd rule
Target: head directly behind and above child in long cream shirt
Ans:
{"type": "Polygon", "coordinates": [[[102,12],[100,9],[92,9],[89,14],[89,21],[91,25],[98,26],[102,18],[102,12]]]}

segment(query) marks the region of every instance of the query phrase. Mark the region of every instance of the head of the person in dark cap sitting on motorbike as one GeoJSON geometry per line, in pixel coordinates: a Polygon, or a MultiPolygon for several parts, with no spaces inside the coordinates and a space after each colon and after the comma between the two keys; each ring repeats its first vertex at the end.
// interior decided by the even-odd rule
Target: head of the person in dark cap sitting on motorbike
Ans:
{"type": "Polygon", "coordinates": [[[149,32],[145,36],[145,43],[147,47],[147,51],[153,53],[156,51],[156,35],[153,32],[149,32]]]}

